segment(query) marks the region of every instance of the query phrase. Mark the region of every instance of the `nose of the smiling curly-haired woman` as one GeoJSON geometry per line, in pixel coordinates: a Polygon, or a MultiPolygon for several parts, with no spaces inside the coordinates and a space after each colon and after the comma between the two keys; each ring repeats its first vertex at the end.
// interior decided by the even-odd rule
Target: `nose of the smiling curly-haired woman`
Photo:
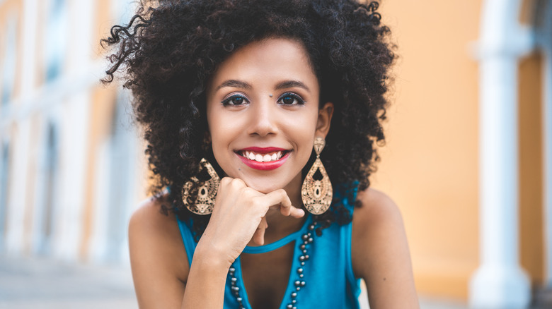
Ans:
{"type": "Polygon", "coordinates": [[[267,136],[270,134],[278,133],[277,126],[277,107],[274,102],[270,100],[263,100],[262,102],[253,103],[248,128],[250,135],[267,136]]]}

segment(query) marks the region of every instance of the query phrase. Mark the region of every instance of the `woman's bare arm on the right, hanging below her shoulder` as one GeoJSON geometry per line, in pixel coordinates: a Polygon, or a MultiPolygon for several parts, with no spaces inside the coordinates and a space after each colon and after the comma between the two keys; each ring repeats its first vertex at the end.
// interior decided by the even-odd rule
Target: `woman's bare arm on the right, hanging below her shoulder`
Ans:
{"type": "Polygon", "coordinates": [[[398,207],[387,195],[359,193],[352,225],[352,265],[366,281],[370,308],[420,308],[398,207]]]}

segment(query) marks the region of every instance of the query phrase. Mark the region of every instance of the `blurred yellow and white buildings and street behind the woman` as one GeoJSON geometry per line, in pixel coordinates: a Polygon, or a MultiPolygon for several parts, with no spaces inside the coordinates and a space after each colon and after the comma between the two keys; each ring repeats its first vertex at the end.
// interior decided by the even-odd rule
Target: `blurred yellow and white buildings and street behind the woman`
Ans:
{"type": "MultiPolygon", "coordinates": [[[[397,44],[372,186],[403,213],[422,308],[552,308],[552,1],[383,1],[397,44]]],[[[98,83],[130,0],[0,0],[0,308],[137,308],[148,171],[98,83]]]]}

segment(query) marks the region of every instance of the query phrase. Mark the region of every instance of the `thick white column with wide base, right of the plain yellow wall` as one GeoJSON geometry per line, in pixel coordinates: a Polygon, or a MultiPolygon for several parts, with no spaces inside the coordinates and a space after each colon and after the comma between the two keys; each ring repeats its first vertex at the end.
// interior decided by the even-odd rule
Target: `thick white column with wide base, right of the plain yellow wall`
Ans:
{"type": "Polygon", "coordinates": [[[527,308],[530,284],[519,265],[517,63],[533,47],[517,23],[519,0],[483,4],[478,42],[480,262],[471,308],[527,308]]]}

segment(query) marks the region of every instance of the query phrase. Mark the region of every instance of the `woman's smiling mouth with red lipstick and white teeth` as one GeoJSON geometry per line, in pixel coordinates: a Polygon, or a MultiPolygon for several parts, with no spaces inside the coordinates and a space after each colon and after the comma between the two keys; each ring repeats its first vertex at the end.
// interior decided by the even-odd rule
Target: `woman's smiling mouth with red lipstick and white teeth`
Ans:
{"type": "Polygon", "coordinates": [[[253,169],[270,170],[282,166],[290,152],[290,150],[276,147],[248,147],[236,151],[236,154],[243,163],[253,169]]]}

